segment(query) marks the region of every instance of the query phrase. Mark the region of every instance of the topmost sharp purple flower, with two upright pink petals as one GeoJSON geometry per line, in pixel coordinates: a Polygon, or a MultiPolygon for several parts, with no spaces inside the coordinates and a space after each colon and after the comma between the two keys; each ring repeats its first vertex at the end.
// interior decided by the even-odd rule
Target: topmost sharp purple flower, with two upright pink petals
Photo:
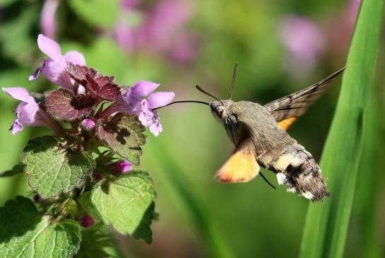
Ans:
{"type": "Polygon", "coordinates": [[[43,61],[42,66],[30,76],[29,80],[35,80],[40,72],[42,72],[52,83],[73,91],[73,79],[70,78],[66,71],[66,63],[71,62],[81,66],[85,65],[83,54],[77,51],[70,51],[63,56],[59,44],[42,34],[37,37],[37,45],[49,58],[43,61]]]}

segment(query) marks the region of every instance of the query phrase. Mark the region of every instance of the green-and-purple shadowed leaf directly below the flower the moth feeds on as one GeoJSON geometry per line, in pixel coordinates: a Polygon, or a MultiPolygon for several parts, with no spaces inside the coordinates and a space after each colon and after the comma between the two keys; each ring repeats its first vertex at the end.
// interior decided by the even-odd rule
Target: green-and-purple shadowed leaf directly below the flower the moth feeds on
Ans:
{"type": "Polygon", "coordinates": [[[97,127],[97,136],[112,151],[139,165],[141,146],[146,143],[145,130],[138,117],[119,113],[111,121],[97,127]]]}

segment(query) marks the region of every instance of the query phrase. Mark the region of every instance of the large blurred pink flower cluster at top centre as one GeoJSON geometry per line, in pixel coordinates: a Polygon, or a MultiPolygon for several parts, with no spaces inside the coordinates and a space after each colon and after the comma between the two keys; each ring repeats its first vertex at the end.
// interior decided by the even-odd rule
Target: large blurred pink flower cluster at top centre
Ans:
{"type": "Polygon", "coordinates": [[[196,56],[196,34],[186,28],[192,16],[192,6],[185,0],[161,0],[152,9],[140,11],[138,2],[122,1],[122,15],[115,27],[119,45],[131,52],[140,49],[153,54],[162,53],[175,61],[191,61],[196,56]],[[128,7],[127,7],[128,6],[128,7]],[[141,13],[137,26],[130,25],[125,16],[141,13]]]}

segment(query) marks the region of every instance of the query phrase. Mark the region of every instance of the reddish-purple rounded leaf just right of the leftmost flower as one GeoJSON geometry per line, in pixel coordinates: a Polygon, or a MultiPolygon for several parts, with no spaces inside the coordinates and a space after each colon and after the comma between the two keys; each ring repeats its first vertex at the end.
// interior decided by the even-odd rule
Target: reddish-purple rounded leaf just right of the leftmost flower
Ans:
{"type": "Polygon", "coordinates": [[[84,95],[75,96],[62,88],[52,91],[45,99],[47,112],[59,121],[71,122],[86,117],[95,110],[95,106],[95,100],[84,95]]]}

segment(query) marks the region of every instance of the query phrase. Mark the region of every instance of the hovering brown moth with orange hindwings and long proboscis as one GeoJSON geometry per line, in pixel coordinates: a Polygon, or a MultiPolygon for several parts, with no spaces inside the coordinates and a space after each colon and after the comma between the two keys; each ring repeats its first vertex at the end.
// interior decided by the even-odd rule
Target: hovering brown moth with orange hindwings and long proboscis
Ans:
{"type": "MultiPolygon", "coordinates": [[[[312,154],[292,139],[287,131],[297,117],[304,115],[328,89],[333,78],[343,70],[340,69],[296,93],[278,98],[266,105],[259,105],[255,102],[232,100],[232,89],[237,76],[236,65],[228,100],[215,98],[196,86],[216,100],[210,103],[194,100],[177,102],[199,102],[209,105],[213,116],[223,124],[227,135],[234,143],[235,150],[215,175],[218,181],[249,182],[259,174],[263,177],[260,172],[260,168],[263,167],[276,173],[278,184],[285,184],[288,192],[297,193],[312,201],[321,201],[330,195],[326,179],[321,175],[321,169],[312,154]]],[[[266,177],[263,179],[266,180],[266,177]]]]}

